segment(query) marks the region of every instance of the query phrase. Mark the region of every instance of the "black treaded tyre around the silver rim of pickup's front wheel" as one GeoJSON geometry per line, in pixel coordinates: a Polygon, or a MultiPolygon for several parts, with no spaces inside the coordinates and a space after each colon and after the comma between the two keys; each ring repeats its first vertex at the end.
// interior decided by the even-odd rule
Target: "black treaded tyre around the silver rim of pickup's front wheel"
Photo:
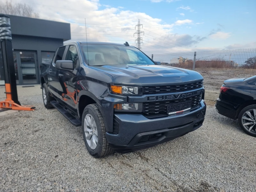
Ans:
{"type": "Polygon", "coordinates": [[[114,150],[109,147],[109,143],[106,138],[105,124],[104,124],[103,118],[100,113],[100,109],[97,104],[90,104],[84,108],[84,112],[82,115],[82,132],[83,132],[85,147],[87,148],[87,150],[91,156],[93,156],[95,158],[101,158],[104,156],[108,156],[114,152],[114,150]],[[97,126],[98,143],[97,143],[97,147],[95,149],[90,148],[90,146],[87,143],[86,136],[85,136],[84,119],[87,114],[89,114],[93,117],[93,119],[96,123],[96,126],[97,126]]]}

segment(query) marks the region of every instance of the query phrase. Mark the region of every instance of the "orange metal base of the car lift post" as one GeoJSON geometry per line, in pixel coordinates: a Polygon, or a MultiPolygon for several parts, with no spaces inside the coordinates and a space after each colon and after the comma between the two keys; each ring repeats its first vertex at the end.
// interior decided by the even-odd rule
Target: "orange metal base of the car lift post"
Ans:
{"type": "Polygon", "coordinates": [[[5,93],[6,93],[6,99],[4,101],[0,101],[0,108],[9,108],[13,110],[26,110],[26,111],[34,111],[35,107],[30,105],[18,105],[12,100],[12,94],[11,94],[11,85],[5,84],[5,93]]]}

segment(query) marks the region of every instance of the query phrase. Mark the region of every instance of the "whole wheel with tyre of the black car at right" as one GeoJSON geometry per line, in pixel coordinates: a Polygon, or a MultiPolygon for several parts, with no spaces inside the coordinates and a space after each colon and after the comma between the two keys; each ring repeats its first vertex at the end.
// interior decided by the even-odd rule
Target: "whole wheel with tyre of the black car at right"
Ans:
{"type": "Polygon", "coordinates": [[[256,105],[249,105],[242,109],[238,116],[238,122],[244,132],[256,137],[256,105]]]}

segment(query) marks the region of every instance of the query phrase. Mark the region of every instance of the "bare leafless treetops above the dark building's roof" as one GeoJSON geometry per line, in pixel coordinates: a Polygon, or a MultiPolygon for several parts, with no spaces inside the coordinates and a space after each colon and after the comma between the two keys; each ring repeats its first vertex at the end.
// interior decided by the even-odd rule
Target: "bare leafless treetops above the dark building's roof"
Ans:
{"type": "Polygon", "coordinates": [[[25,3],[12,3],[12,0],[6,0],[5,2],[0,0],[0,13],[39,18],[39,14],[34,12],[32,6],[25,3]]]}

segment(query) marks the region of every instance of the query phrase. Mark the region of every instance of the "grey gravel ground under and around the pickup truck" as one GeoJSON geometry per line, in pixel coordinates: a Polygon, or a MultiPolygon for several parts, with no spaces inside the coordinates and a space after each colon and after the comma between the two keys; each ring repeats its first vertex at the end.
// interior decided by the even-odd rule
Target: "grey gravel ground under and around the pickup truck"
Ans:
{"type": "Polygon", "coordinates": [[[35,111],[0,116],[0,191],[256,191],[255,138],[208,106],[204,125],[128,154],[91,157],[81,127],[40,95],[35,111]]]}

